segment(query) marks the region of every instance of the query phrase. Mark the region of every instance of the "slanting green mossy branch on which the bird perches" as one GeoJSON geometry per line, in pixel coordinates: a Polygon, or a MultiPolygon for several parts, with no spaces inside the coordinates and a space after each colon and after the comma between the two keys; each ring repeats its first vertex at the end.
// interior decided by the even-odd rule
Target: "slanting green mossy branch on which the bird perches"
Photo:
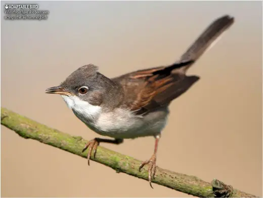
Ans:
{"type": "MultiPolygon", "coordinates": [[[[3,107],[1,107],[1,125],[15,131],[23,138],[34,139],[86,158],[87,151],[81,152],[86,140],[80,136],[71,136],[49,128],[3,107]]],[[[96,159],[92,156],[91,160],[111,167],[117,173],[122,172],[141,179],[148,179],[146,169],[143,169],[142,172],[138,171],[140,161],[102,146],[98,146],[96,159]]],[[[159,167],[156,169],[155,179],[152,182],[198,197],[256,197],[233,189],[232,186],[216,179],[208,183],[195,176],[176,173],[159,167]]]]}

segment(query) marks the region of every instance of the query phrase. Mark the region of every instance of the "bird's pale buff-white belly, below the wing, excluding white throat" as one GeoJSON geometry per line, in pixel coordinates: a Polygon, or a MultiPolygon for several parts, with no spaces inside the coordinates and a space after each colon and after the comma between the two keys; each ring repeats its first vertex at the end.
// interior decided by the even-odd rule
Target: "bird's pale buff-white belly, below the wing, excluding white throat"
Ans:
{"type": "Polygon", "coordinates": [[[119,109],[101,114],[97,121],[84,122],[96,133],[113,138],[137,138],[161,133],[166,125],[168,111],[155,111],[138,116],[130,111],[119,109]]]}

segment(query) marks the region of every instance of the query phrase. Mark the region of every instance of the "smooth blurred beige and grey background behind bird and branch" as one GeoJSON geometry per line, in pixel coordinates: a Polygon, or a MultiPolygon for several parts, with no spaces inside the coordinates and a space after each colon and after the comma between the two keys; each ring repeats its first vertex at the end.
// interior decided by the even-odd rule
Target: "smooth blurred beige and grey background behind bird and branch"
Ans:
{"type": "MultiPolygon", "coordinates": [[[[201,80],[170,106],[157,164],[262,196],[261,9],[261,2],[40,2],[39,10],[50,11],[46,21],[4,20],[2,12],[1,106],[72,135],[99,137],[45,90],[84,64],[114,77],[171,63],[211,21],[230,14],[235,24],[189,70],[201,80]]],[[[148,160],[154,139],[101,145],[148,160]]],[[[6,197],[189,196],[151,189],[95,162],[88,167],[3,126],[1,162],[6,197]]]]}

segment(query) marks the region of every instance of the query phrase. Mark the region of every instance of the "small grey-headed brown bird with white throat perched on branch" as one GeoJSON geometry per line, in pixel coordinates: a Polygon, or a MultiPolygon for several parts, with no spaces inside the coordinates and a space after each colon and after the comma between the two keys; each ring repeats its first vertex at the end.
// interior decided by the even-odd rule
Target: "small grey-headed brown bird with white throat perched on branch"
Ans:
{"type": "Polygon", "coordinates": [[[156,155],[161,133],[167,124],[169,104],[188,91],[200,76],[187,75],[188,69],[211,48],[234,23],[234,17],[223,15],[197,37],[183,55],[172,64],[125,73],[108,78],[94,64],[80,66],[59,86],[46,90],[59,94],[68,108],[95,133],[109,138],[88,141],[90,165],[101,142],[121,144],[124,139],[153,136],[154,151],[149,160],[141,163],[139,171],[148,165],[148,181],[156,172],[156,155]]]}

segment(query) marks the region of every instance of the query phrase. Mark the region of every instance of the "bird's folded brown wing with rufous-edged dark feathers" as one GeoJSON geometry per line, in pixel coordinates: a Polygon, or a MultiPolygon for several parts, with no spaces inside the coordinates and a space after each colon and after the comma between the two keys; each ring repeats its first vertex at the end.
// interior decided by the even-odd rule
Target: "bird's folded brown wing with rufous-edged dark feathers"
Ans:
{"type": "Polygon", "coordinates": [[[183,73],[171,73],[176,68],[192,64],[193,61],[173,64],[168,67],[158,67],[131,73],[129,78],[142,80],[140,92],[137,98],[129,103],[129,108],[137,114],[145,113],[167,105],[173,99],[186,92],[195,82],[198,76],[186,76],[183,73]]]}

